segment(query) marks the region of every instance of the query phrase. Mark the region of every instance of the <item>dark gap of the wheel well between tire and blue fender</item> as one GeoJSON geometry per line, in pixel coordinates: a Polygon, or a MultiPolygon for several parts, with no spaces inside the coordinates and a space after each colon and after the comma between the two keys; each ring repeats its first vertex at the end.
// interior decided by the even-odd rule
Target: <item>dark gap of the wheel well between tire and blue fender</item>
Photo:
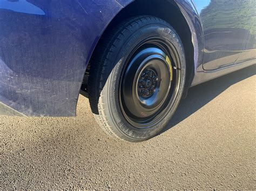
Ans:
{"type": "MultiPolygon", "coordinates": [[[[97,46],[100,45],[104,35],[108,33],[108,31],[112,30],[114,26],[118,23],[122,22],[124,19],[140,16],[140,15],[149,15],[161,18],[168,22],[174,30],[179,34],[181,41],[183,42],[185,56],[186,56],[186,82],[185,82],[185,90],[184,96],[187,93],[187,89],[190,87],[192,82],[192,78],[194,75],[194,48],[192,44],[192,35],[190,31],[190,27],[188,26],[183,14],[181,13],[180,9],[178,8],[177,4],[171,0],[136,0],[131,4],[127,5],[122,11],[114,17],[111,23],[106,27],[102,37],[100,37],[97,46]]],[[[94,55],[92,54],[92,57],[94,55]]],[[[82,84],[82,94],[87,95],[87,82],[90,74],[90,61],[89,65],[87,66],[84,81],[82,84]],[[85,92],[83,92],[85,91],[85,92]]]]}

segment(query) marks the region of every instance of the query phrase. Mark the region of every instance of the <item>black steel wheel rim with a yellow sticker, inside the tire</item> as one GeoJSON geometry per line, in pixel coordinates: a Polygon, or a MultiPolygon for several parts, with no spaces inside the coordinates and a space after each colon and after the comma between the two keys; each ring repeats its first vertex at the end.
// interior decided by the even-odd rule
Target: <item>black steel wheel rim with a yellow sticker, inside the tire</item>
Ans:
{"type": "Polygon", "coordinates": [[[126,61],[119,88],[125,119],[135,128],[150,128],[165,116],[177,95],[178,53],[166,39],[147,39],[126,61]],[[174,59],[173,59],[174,57],[174,59]]]}

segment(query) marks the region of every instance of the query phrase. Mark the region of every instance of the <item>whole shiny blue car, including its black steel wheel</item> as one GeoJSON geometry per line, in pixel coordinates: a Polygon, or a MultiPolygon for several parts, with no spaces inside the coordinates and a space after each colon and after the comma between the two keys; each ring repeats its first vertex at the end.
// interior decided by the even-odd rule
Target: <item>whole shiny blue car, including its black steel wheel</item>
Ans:
{"type": "Polygon", "coordinates": [[[254,65],[255,37],[255,0],[0,0],[0,113],[75,116],[82,94],[141,142],[188,88],[254,65]]]}

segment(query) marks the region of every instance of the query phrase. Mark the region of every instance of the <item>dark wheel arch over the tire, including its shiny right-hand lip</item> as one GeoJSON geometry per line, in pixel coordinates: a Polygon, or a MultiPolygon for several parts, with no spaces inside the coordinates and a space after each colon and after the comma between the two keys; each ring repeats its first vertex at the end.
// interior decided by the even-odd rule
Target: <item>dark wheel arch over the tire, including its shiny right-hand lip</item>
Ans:
{"type": "MultiPolygon", "coordinates": [[[[200,55],[199,47],[203,44],[200,38],[201,25],[196,10],[190,1],[183,0],[135,0],[129,3],[123,3],[124,8],[111,20],[100,36],[95,49],[100,46],[105,34],[108,33],[116,24],[122,20],[139,15],[150,15],[159,17],[168,22],[174,30],[179,34],[183,42],[187,76],[184,90],[184,97],[187,89],[191,86],[196,68],[200,59],[203,60],[203,55],[200,55]],[[146,6],[145,6],[146,5],[146,6]],[[143,9],[138,9],[143,8],[143,9]],[[177,19],[178,18],[178,19],[177,19]]],[[[95,51],[92,52],[91,58],[95,51]]],[[[91,59],[90,59],[91,60],[91,59]]],[[[81,88],[81,93],[87,96],[87,82],[90,74],[90,60],[85,72],[84,81],[81,88]]]]}

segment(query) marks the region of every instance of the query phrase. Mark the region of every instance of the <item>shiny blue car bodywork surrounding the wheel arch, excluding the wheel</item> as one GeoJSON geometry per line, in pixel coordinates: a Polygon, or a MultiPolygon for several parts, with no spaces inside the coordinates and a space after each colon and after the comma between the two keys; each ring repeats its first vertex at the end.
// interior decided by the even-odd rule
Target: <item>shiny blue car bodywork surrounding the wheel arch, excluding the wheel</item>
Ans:
{"type": "MultiPolygon", "coordinates": [[[[256,1],[157,2],[172,3],[189,26],[193,53],[187,88],[256,63],[256,1]]],[[[75,116],[93,50],[132,3],[1,0],[0,107],[16,115],[75,116]]]]}

